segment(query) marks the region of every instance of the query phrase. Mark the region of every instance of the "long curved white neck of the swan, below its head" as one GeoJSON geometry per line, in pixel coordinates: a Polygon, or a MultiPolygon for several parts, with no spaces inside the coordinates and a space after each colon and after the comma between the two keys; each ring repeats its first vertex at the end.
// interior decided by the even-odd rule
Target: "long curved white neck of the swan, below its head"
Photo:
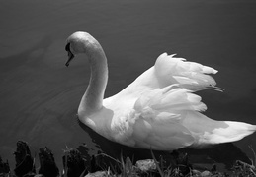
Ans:
{"type": "Polygon", "coordinates": [[[92,114],[102,108],[104,92],[108,82],[108,65],[106,55],[97,42],[92,50],[88,50],[91,67],[91,78],[78,108],[78,114],[92,114]]]}

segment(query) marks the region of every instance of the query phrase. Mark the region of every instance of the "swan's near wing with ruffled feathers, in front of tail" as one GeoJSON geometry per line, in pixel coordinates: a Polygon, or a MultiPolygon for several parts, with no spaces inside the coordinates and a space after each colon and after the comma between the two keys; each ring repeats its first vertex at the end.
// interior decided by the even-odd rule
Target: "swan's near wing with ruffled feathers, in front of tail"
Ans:
{"type": "Polygon", "coordinates": [[[134,104],[135,146],[172,150],[192,145],[195,137],[182,124],[184,112],[205,109],[200,96],[175,85],[145,92],[134,104]]]}

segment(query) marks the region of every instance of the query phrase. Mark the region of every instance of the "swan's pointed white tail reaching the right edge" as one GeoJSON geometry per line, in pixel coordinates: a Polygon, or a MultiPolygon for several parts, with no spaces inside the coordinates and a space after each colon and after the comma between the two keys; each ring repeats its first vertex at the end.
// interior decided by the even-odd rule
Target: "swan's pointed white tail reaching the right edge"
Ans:
{"type": "Polygon", "coordinates": [[[188,112],[183,125],[197,137],[194,148],[236,142],[256,131],[255,125],[234,121],[215,121],[199,112],[188,112]]]}

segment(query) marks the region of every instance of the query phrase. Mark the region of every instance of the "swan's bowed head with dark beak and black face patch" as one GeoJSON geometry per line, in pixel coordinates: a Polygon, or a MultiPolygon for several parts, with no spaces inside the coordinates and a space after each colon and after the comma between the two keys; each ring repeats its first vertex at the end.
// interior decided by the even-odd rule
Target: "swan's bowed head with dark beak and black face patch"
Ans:
{"type": "Polygon", "coordinates": [[[92,48],[92,44],[97,42],[92,35],[87,32],[77,31],[71,34],[66,40],[65,50],[67,51],[68,60],[66,66],[69,66],[70,61],[79,53],[88,53],[92,48]]]}

